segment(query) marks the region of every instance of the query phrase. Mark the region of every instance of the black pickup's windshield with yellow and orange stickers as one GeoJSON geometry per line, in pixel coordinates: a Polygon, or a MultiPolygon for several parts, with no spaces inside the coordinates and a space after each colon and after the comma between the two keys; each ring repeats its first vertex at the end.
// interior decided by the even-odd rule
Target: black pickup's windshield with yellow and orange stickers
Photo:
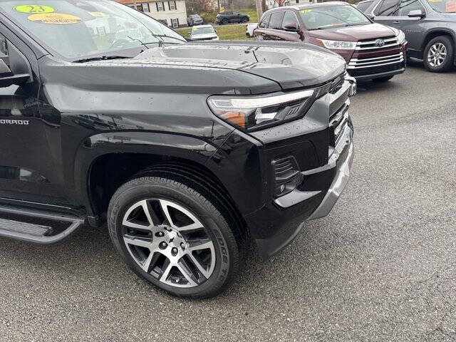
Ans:
{"type": "Polygon", "coordinates": [[[180,34],[115,1],[0,1],[0,11],[44,46],[71,60],[119,55],[125,49],[162,41],[185,43],[180,34]]]}

